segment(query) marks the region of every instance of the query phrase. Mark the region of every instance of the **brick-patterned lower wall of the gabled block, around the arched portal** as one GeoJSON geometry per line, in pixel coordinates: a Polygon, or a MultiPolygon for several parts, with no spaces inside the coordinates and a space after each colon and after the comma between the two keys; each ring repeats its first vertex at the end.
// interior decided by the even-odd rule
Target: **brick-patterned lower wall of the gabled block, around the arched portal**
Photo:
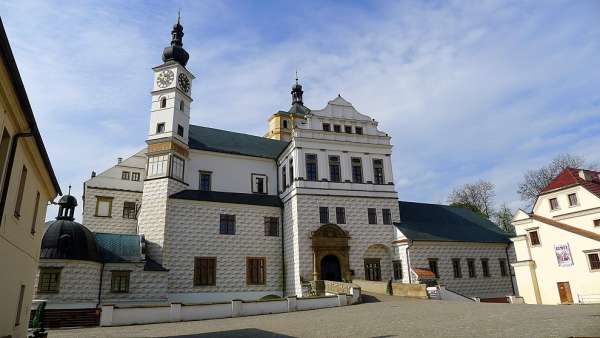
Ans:
{"type": "MultiPolygon", "coordinates": [[[[296,195],[292,198],[292,224],[296,224],[297,235],[292,241],[294,260],[299,265],[298,273],[294,275],[294,283],[298,285],[300,278],[312,280],[313,273],[313,252],[311,248],[310,235],[312,231],[317,230],[321,224],[319,220],[319,207],[329,208],[329,220],[335,223],[335,208],[346,208],[346,224],[339,226],[348,231],[350,240],[350,269],[354,270],[354,278],[364,279],[364,258],[367,249],[372,245],[381,245],[386,247],[383,255],[382,265],[385,262],[391,262],[393,255],[391,243],[394,240],[394,225],[384,225],[382,209],[390,209],[392,221],[398,222],[400,219],[398,201],[396,199],[386,198],[361,198],[346,196],[318,196],[318,195],[296,195]],[[367,208],[377,209],[377,224],[369,224],[367,208]],[[297,244],[295,244],[297,241],[297,244]]],[[[286,202],[288,205],[289,202],[286,202]]],[[[286,244],[287,247],[287,244],[286,244]]],[[[286,250],[288,251],[288,250],[286,250]]],[[[286,252],[287,253],[287,252],[286,252]]],[[[289,253],[288,253],[289,254],[289,253]]],[[[379,252],[379,254],[382,254],[379,252]]],[[[368,256],[375,257],[371,254],[368,256]]],[[[382,278],[391,278],[391,263],[386,263],[387,267],[382,266],[382,278]]],[[[288,269],[289,271],[289,269],[288,269]]],[[[289,286],[288,286],[289,288],[289,286]]]]}

